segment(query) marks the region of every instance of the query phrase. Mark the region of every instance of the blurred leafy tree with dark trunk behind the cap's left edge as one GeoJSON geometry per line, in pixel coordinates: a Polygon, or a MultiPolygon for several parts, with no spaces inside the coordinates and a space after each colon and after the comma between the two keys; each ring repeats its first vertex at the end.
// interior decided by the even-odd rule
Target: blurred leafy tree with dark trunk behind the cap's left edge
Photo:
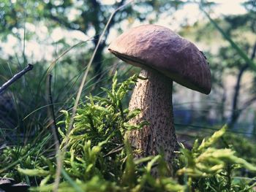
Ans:
{"type": "MultiPolygon", "coordinates": [[[[41,23],[48,27],[49,31],[54,28],[64,28],[68,31],[80,31],[86,36],[93,37],[93,46],[96,47],[99,35],[105,28],[111,12],[124,5],[127,1],[116,1],[115,4],[106,4],[97,0],[86,1],[3,1],[0,4],[2,37],[12,34],[22,41],[22,34],[18,29],[25,28],[25,23],[41,23]],[[13,3],[15,2],[15,3],[13,3]]],[[[146,20],[147,16],[154,13],[153,20],[157,20],[161,12],[174,12],[183,1],[142,1],[134,6],[126,7],[120,12],[116,12],[113,20],[110,21],[105,32],[105,37],[100,42],[97,54],[94,58],[94,74],[97,79],[102,74],[103,50],[106,46],[106,39],[111,28],[121,30],[123,20],[146,20]]],[[[151,20],[151,22],[153,21],[151,20]]],[[[26,33],[28,31],[24,31],[26,33]]],[[[25,34],[29,39],[30,35],[25,34]]],[[[24,37],[23,37],[24,38],[24,37]]],[[[25,55],[24,55],[25,58],[25,55]]]]}

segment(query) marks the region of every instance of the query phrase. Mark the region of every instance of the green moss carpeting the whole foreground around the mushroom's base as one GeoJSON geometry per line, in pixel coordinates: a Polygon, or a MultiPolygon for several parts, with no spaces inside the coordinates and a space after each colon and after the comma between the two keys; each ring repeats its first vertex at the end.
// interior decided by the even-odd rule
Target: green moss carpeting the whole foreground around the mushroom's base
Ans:
{"type": "MultiPolygon", "coordinates": [[[[244,167],[256,172],[255,166],[238,158],[230,148],[214,147],[225,134],[226,126],[200,144],[195,141],[192,150],[182,147],[177,152],[178,170],[174,173],[169,171],[162,154],[135,159],[125,132],[140,129],[146,122],[129,125],[140,110],[130,112],[121,103],[136,80],[135,75],[118,83],[115,75],[112,88],[103,88],[105,96],[87,97],[75,115],[69,135],[69,112],[63,111],[65,118],[58,123],[60,149],[67,142],[67,152],[59,191],[252,191],[252,180],[245,180],[248,178],[236,175],[234,170],[244,167]]],[[[37,147],[26,145],[20,153],[16,153],[16,147],[4,149],[0,155],[0,176],[31,183],[35,186],[31,191],[52,191],[57,162],[39,153],[48,139],[37,147]],[[12,165],[4,169],[6,164],[12,165]]]]}

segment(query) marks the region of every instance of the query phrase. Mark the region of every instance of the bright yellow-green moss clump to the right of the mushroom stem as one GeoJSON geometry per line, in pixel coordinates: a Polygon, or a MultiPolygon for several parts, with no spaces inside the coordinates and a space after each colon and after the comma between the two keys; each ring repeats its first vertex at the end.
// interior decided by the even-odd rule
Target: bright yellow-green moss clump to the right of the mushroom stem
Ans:
{"type": "Polygon", "coordinates": [[[224,126],[210,138],[203,139],[200,145],[196,140],[191,151],[184,147],[181,150],[181,162],[185,166],[177,173],[187,176],[189,188],[197,191],[253,191],[254,185],[233,179],[233,172],[241,167],[256,172],[255,166],[238,158],[234,150],[213,147],[226,129],[224,126]]]}

